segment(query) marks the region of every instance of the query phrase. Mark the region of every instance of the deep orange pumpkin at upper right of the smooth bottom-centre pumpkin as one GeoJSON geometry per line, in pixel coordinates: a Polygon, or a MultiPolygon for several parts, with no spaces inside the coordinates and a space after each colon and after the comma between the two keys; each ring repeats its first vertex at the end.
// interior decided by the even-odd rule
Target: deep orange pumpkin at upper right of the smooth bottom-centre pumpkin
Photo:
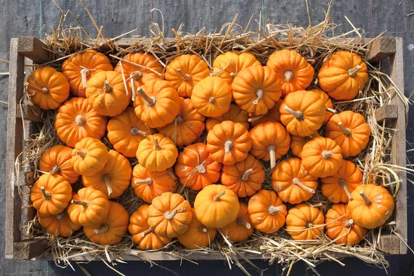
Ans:
{"type": "Polygon", "coordinates": [[[237,197],[250,197],[262,188],[264,175],[262,164],[249,154],[234,165],[224,165],[220,181],[233,190],[237,197]]]}

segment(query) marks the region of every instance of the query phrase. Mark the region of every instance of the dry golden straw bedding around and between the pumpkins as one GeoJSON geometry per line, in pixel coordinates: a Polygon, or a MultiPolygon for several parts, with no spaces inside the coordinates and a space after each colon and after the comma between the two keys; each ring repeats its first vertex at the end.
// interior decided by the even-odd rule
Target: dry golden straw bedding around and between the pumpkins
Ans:
{"type": "MultiPolygon", "coordinates": [[[[210,68],[212,68],[211,65],[215,57],[228,50],[251,52],[259,61],[266,63],[266,59],[272,52],[280,48],[288,48],[300,52],[315,68],[315,75],[317,75],[317,69],[332,52],[348,50],[356,52],[364,58],[366,57],[369,43],[371,43],[366,42],[362,38],[360,30],[353,27],[351,22],[352,30],[345,34],[334,36],[333,33],[337,25],[329,20],[330,9],[331,6],[329,6],[326,12],[326,19],[312,28],[294,27],[290,24],[274,25],[268,23],[268,21],[263,22],[263,28],[262,18],[259,19],[259,22],[253,22],[253,17],[250,18],[247,26],[239,26],[236,23],[236,15],[233,21],[224,24],[221,30],[209,32],[204,28],[197,32],[197,34],[186,34],[182,32],[182,26],[180,26],[179,30],[172,29],[175,38],[167,39],[163,33],[164,23],[161,27],[157,23],[152,23],[150,26],[152,38],[140,37],[137,43],[132,44],[128,48],[117,46],[117,39],[130,32],[114,39],[103,37],[102,29],[97,27],[95,19],[93,19],[88,8],[86,10],[98,31],[96,38],[90,36],[89,32],[81,26],[78,19],[79,26],[65,26],[66,17],[72,15],[72,12],[62,11],[58,28],[56,30],[52,28],[51,34],[45,38],[48,50],[52,53],[52,61],[40,66],[48,65],[60,68],[64,59],[71,55],[77,55],[77,53],[88,48],[100,49],[110,57],[114,64],[122,60],[122,57],[129,52],[141,51],[148,52],[157,57],[163,66],[166,66],[179,55],[198,55],[208,63],[210,68]],[[258,27],[255,28],[253,25],[258,27]]],[[[334,101],[334,108],[338,111],[353,110],[364,115],[368,125],[371,127],[372,137],[366,149],[357,157],[353,157],[351,161],[363,170],[364,183],[376,182],[377,184],[387,186],[395,196],[400,182],[395,171],[405,169],[391,164],[391,136],[396,130],[386,128],[383,124],[377,124],[374,111],[376,108],[388,103],[391,97],[394,96],[393,93],[396,93],[397,97],[403,99],[406,106],[408,106],[408,99],[404,97],[403,92],[394,86],[390,77],[380,71],[380,68],[375,68],[368,64],[368,73],[369,81],[358,97],[351,101],[334,101]]],[[[317,79],[313,81],[311,88],[313,86],[317,86],[317,79]]],[[[43,113],[45,121],[39,126],[39,131],[36,134],[28,137],[26,133],[25,158],[17,159],[16,170],[19,170],[20,167],[25,168],[32,163],[34,164],[34,177],[38,177],[41,174],[38,170],[41,153],[51,146],[61,144],[61,141],[57,139],[54,128],[55,112],[51,110],[43,113]]],[[[205,136],[201,136],[200,140],[204,141],[205,136]]],[[[103,142],[108,148],[112,148],[106,137],[103,138],[103,142]]],[[[288,157],[290,157],[290,153],[282,159],[287,159],[288,157]]],[[[137,159],[130,159],[130,163],[134,166],[137,164],[137,159]]],[[[264,164],[264,168],[266,170],[266,181],[263,188],[271,190],[271,170],[269,164],[264,164]]],[[[74,184],[73,188],[77,190],[80,187],[81,182],[79,180],[77,184],[74,184]]],[[[196,195],[193,190],[181,186],[179,193],[184,195],[193,204],[196,195]]],[[[143,201],[135,196],[131,187],[114,200],[126,207],[130,214],[143,204],[143,201]]],[[[312,199],[308,201],[308,204],[319,206],[324,213],[331,206],[331,202],[322,195],[319,188],[312,199]]],[[[29,206],[29,203],[27,205],[29,206]]],[[[139,250],[132,243],[132,239],[129,236],[124,237],[115,246],[100,246],[90,242],[81,230],[75,232],[69,238],[50,235],[39,225],[37,217],[29,221],[24,228],[23,233],[26,233],[28,237],[46,237],[48,239],[48,251],[45,254],[52,257],[57,266],[70,266],[73,268],[72,261],[75,257],[92,255],[95,259],[101,259],[108,267],[112,268],[110,264],[113,266],[117,262],[124,262],[122,261],[122,255],[125,254],[137,255],[142,257],[144,261],[155,264],[148,257],[141,255],[143,251],[139,250]]],[[[284,229],[280,229],[272,235],[255,231],[246,242],[239,244],[229,242],[222,233],[219,233],[209,248],[186,250],[174,240],[162,251],[173,257],[181,258],[181,260],[195,263],[197,261],[191,259],[191,255],[195,252],[201,253],[201,255],[219,253],[227,260],[230,268],[238,266],[248,275],[250,273],[246,270],[246,266],[257,268],[249,260],[252,257],[266,257],[269,259],[270,264],[275,262],[282,264],[284,270],[288,270],[288,273],[290,273],[293,264],[299,260],[305,262],[311,270],[317,273],[315,266],[325,260],[333,260],[344,266],[340,262],[340,258],[345,256],[357,257],[368,264],[386,268],[388,262],[384,254],[377,249],[377,243],[380,240],[381,233],[384,233],[384,231],[395,233],[397,230],[395,229],[395,221],[388,222],[383,226],[383,229],[369,230],[364,241],[357,246],[335,244],[334,241],[323,233],[316,240],[294,241],[284,229]]]]}

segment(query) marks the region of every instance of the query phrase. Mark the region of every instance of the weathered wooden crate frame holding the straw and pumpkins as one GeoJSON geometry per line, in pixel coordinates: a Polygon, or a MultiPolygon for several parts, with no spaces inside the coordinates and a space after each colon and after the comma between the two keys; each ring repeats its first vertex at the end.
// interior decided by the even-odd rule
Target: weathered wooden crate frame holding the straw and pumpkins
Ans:
{"type": "MultiPolygon", "coordinates": [[[[137,43],[137,39],[119,39],[117,45],[127,47],[137,43]]],[[[92,41],[95,43],[95,41],[92,41]]],[[[371,43],[368,53],[368,62],[371,64],[382,61],[388,63],[390,76],[395,86],[404,92],[404,58],[403,43],[400,37],[381,37],[371,43]],[[389,59],[387,59],[389,57],[389,59]]],[[[27,239],[21,229],[23,225],[34,217],[34,209],[22,208],[29,202],[29,187],[33,183],[32,172],[25,172],[20,168],[19,175],[14,170],[14,162],[21,155],[23,148],[23,135],[34,132],[36,124],[41,122],[42,110],[29,106],[23,98],[23,81],[25,80],[25,62],[45,63],[49,61],[49,52],[42,41],[34,37],[19,37],[10,41],[10,77],[8,99],[8,133],[7,133],[7,175],[6,175],[6,259],[33,259],[46,250],[46,239],[27,239]],[[26,61],[25,61],[26,60],[26,61]],[[23,104],[21,104],[23,101],[23,104]],[[24,119],[24,124],[23,124],[24,119]],[[19,195],[16,180],[23,184],[23,196],[19,195]]],[[[29,71],[30,72],[30,71],[29,71]]],[[[27,74],[28,72],[26,72],[27,74]]],[[[406,166],[406,111],[402,100],[395,96],[391,103],[376,110],[377,121],[385,119],[387,124],[396,128],[392,139],[392,162],[398,166],[406,166]]],[[[23,153],[24,154],[24,153],[23,153]]],[[[402,239],[407,239],[407,190],[406,172],[397,172],[401,179],[400,190],[397,195],[394,219],[397,223],[397,231],[402,239]]],[[[406,244],[397,236],[382,234],[380,250],[396,255],[406,253],[406,244]]],[[[126,255],[124,259],[137,260],[141,257],[156,260],[180,259],[164,252],[139,253],[138,255],[126,255]]],[[[262,255],[247,256],[252,259],[262,258],[262,255]]],[[[223,259],[219,253],[203,254],[194,253],[186,256],[190,259],[223,259]]],[[[92,259],[88,253],[78,256],[73,260],[92,259]]]]}

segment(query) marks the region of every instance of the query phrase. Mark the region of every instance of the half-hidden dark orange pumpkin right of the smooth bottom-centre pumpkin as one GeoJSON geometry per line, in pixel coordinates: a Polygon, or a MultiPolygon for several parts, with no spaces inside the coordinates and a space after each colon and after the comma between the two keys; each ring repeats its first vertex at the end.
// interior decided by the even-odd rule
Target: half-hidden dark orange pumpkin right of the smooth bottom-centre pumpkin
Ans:
{"type": "Polygon", "coordinates": [[[254,230],[248,215],[247,204],[242,202],[240,202],[240,210],[236,219],[228,226],[220,228],[220,232],[232,242],[244,242],[253,234],[254,230]]]}

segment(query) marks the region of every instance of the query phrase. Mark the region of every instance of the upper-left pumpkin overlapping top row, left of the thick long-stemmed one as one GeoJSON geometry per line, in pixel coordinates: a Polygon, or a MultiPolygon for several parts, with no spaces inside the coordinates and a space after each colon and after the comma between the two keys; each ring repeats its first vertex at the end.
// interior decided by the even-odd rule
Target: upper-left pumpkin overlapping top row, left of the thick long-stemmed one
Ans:
{"type": "Polygon", "coordinates": [[[131,95],[119,72],[102,71],[91,77],[86,88],[88,103],[100,115],[116,116],[128,107],[131,95]]]}

